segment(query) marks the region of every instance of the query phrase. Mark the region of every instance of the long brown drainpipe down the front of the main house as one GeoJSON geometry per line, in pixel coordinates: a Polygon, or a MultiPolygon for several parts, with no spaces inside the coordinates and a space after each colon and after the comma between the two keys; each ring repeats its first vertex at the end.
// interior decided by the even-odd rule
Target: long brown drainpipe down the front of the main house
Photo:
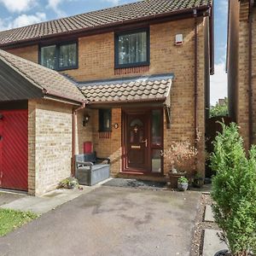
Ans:
{"type": "Polygon", "coordinates": [[[194,115],[195,115],[195,148],[197,147],[197,11],[194,9],[195,17],[195,104],[194,104],[194,115]]]}

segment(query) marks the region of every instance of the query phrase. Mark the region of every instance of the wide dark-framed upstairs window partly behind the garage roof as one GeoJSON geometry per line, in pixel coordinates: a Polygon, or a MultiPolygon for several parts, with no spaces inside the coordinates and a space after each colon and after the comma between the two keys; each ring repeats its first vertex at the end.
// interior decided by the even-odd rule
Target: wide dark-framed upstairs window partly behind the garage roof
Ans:
{"type": "Polygon", "coordinates": [[[40,64],[55,70],[78,67],[78,44],[53,44],[40,49],[40,64]]]}

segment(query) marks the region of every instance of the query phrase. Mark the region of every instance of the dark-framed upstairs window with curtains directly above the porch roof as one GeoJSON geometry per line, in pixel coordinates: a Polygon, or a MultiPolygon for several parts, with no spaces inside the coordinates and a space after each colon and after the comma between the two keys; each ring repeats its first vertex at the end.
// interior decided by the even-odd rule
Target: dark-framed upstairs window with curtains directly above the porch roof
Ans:
{"type": "Polygon", "coordinates": [[[149,31],[118,33],[115,35],[115,67],[149,65],[149,31]]]}

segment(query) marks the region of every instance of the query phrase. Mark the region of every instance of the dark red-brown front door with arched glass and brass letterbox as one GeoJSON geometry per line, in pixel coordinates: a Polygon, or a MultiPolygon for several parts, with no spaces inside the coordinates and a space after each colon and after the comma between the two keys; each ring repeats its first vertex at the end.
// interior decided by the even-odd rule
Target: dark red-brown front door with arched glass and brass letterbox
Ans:
{"type": "Polygon", "coordinates": [[[146,113],[126,113],[125,169],[131,172],[148,172],[150,168],[148,125],[146,113]]]}

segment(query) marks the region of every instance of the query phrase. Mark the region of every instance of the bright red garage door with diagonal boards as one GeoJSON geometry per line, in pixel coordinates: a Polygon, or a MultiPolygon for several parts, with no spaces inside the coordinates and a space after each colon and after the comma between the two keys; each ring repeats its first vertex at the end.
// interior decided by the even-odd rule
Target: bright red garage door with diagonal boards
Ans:
{"type": "Polygon", "coordinates": [[[27,190],[27,110],[0,111],[0,187],[27,190]]]}

